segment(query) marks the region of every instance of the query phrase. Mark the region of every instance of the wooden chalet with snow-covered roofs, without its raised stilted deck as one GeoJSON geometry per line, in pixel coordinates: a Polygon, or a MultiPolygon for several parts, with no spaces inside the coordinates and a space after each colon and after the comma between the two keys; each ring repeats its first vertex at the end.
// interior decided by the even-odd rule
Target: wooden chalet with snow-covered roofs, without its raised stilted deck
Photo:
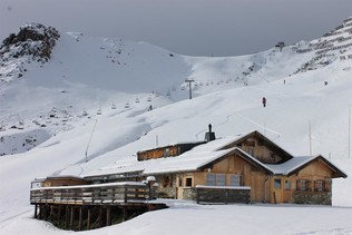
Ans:
{"type": "Polygon", "coordinates": [[[197,202],[331,205],[332,179],[348,177],[323,156],[294,157],[258,131],[215,139],[209,129],[206,137],[202,144],[139,151],[138,161],[117,163],[85,179],[99,184],[154,176],[159,197],[197,202]]]}

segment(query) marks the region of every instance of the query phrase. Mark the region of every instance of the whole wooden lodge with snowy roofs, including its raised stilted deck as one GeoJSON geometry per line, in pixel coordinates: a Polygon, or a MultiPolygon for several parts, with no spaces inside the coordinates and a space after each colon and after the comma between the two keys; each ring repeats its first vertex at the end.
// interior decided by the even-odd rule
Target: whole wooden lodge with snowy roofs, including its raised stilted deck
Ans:
{"type": "Polygon", "coordinates": [[[321,155],[294,157],[258,131],[138,151],[135,161],[84,177],[32,182],[35,217],[68,229],[108,226],[167,207],[159,198],[197,203],[332,203],[332,179],[348,177],[321,155]]]}

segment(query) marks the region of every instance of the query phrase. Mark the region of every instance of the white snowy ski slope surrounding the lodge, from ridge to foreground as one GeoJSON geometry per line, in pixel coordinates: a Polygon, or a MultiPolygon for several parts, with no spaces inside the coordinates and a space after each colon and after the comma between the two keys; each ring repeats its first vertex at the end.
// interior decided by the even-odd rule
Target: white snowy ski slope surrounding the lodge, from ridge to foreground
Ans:
{"type": "Polygon", "coordinates": [[[138,150],[203,140],[208,124],[217,138],[257,129],[295,156],[322,154],[349,177],[334,179],[332,207],[167,200],[170,209],[80,234],[352,234],[352,60],[338,50],[327,65],[295,72],[315,53],[293,47],[307,45],[192,58],[145,42],[61,36],[51,60],[26,63],[22,78],[0,87],[1,234],[72,233],[32,218],[33,178],[130,165],[138,150]],[[195,80],[193,99],[186,78],[195,80]]]}

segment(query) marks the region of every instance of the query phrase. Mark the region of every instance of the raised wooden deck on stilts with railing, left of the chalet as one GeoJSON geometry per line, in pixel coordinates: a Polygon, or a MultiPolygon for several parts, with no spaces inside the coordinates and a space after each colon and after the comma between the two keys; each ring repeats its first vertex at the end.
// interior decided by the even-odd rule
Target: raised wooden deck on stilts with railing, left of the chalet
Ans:
{"type": "Polygon", "coordinates": [[[153,192],[143,183],[39,187],[30,190],[35,218],[63,229],[94,229],[117,224],[145,212],[167,208],[151,200],[153,192]]]}

